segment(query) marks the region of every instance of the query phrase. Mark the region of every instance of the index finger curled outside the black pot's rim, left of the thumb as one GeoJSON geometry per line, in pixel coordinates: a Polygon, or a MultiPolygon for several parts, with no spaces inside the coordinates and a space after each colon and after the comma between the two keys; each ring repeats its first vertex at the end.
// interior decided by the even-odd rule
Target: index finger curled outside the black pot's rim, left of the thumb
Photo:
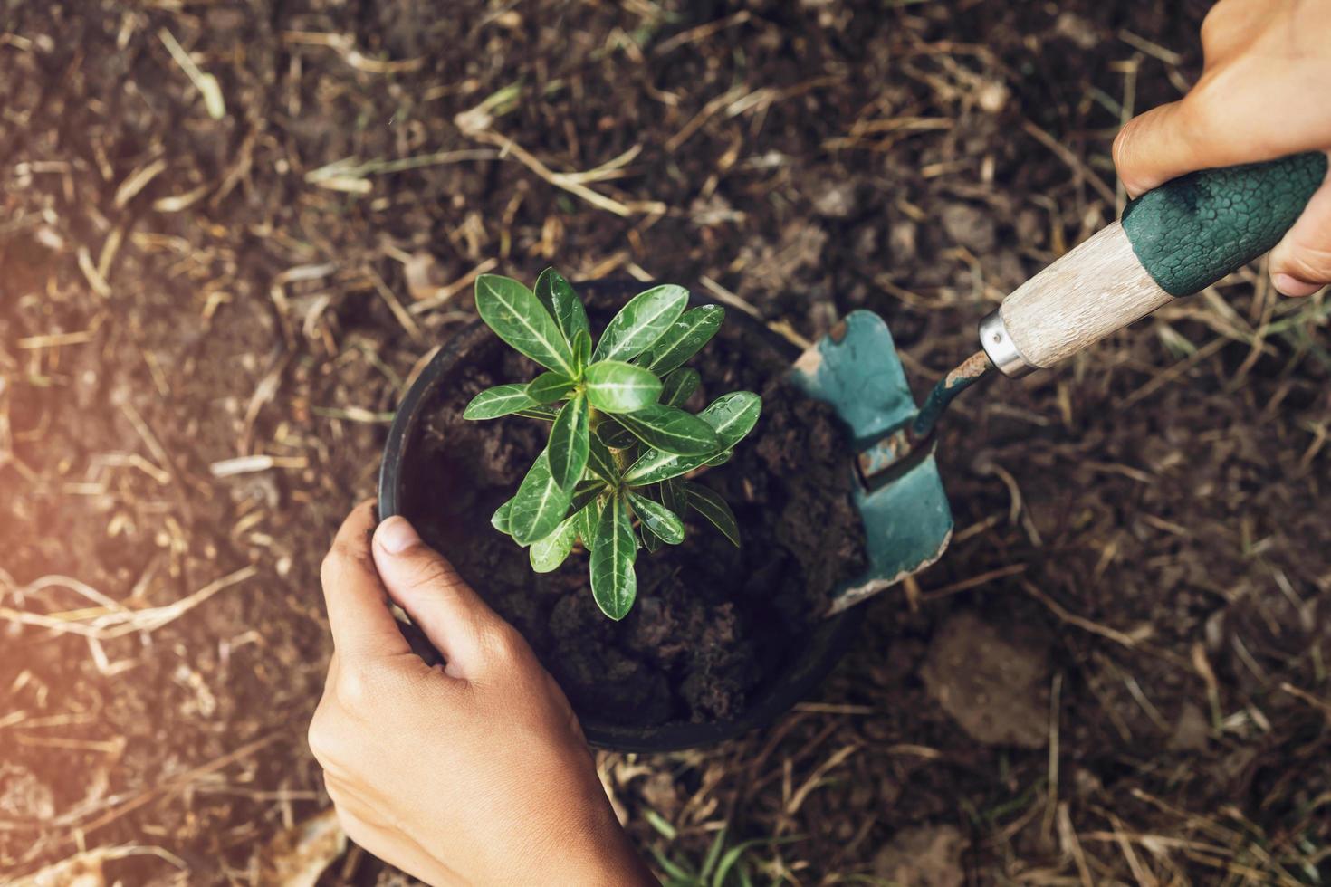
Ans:
{"type": "Polygon", "coordinates": [[[343,660],[411,652],[389,610],[383,582],[374,568],[373,529],[373,503],[357,505],[342,523],[319,570],[333,645],[343,660]]]}

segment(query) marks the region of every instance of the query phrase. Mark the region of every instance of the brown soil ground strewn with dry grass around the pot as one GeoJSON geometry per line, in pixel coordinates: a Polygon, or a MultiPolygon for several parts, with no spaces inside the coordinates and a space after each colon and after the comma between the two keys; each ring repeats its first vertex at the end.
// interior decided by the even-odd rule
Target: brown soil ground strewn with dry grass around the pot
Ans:
{"type": "MultiPolygon", "coordinates": [[[[0,872],[338,852],[317,568],[478,270],[797,339],[873,309],[924,390],[1121,209],[1206,5],[0,4],[0,872]]],[[[769,729],[602,755],[635,838],[756,842],[755,883],[1326,883],[1328,313],[1247,269],[968,394],[948,556],[769,729]]]]}

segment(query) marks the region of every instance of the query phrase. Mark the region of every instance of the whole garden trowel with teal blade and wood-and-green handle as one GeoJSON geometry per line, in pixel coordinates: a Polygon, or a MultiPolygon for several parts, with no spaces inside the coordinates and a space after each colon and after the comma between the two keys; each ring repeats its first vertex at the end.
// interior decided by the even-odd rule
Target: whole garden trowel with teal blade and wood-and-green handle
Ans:
{"type": "Polygon", "coordinates": [[[837,589],[839,613],[937,561],[952,539],[933,431],[953,398],[998,370],[1047,368],[1275,246],[1327,178],[1319,152],[1191,173],[1142,194],[1123,217],[1013,291],[980,322],[980,350],[916,407],[882,318],[855,311],[805,351],[791,378],[829,403],[857,453],[855,504],[869,565],[837,589]]]}

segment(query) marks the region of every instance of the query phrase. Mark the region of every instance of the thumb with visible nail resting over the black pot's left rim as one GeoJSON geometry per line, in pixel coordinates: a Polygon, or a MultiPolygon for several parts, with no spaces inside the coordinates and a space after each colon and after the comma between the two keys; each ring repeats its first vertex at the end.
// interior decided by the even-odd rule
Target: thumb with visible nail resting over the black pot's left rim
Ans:
{"type": "Polygon", "coordinates": [[[474,674],[484,653],[483,634],[502,622],[438,552],[421,541],[406,517],[394,516],[374,533],[374,563],[389,596],[421,626],[455,677],[474,674]]]}

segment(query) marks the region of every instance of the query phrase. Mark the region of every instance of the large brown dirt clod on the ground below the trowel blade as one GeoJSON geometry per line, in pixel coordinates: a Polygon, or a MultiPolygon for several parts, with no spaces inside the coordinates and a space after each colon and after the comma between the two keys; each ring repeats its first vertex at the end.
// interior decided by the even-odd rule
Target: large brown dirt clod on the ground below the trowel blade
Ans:
{"type": "Polygon", "coordinates": [[[972,738],[1040,749],[1049,725],[1049,650],[974,613],[934,634],[921,670],[929,694],[972,738]]]}

